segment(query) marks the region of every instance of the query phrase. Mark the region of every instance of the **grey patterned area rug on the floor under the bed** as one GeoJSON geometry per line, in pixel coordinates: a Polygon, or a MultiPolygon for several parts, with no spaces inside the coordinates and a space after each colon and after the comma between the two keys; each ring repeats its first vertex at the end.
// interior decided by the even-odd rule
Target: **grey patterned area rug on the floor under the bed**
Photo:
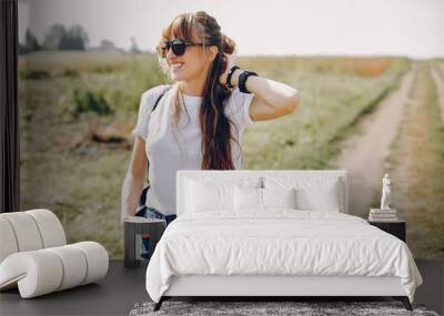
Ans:
{"type": "Polygon", "coordinates": [[[401,302],[163,302],[153,312],[154,303],[138,303],[130,316],[148,315],[431,315],[422,304],[412,304],[413,312],[406,310],[401,302]]]}

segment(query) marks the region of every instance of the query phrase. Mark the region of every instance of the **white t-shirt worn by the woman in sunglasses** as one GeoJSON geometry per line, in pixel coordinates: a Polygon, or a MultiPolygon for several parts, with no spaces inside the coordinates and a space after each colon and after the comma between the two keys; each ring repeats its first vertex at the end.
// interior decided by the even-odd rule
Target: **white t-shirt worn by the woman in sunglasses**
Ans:
{"type": "MultiPolygon", "coordinates": [[[[152,112],[155,100],[168,84],[161,84],[142,94],[138,122],[132,134],[145,140],[145,152],[149,160],[148,177],[150,190],[147,195],[147,206],[170,215],[175,214],[175,173],[178,170],[200,170],[201,154],[201,128],[199,123],[199,110],[202,96],[183,94],[186,112],[181,111],[176,129],[173,131],[174,93],[178,84],[172,88],[159,101],[152,112]],[[173,134],[175,132],[175,134],[173,134]]],[[[233,137],[242,144],[244,129],[254,122],[249,115],[249,106],[253,94],[243,93],[235,86],[232,94],[225,101],[225,114],[239,129],[231,126],[233,137]]],[[[179,98],[180,102],[180,98],[179,98]]],[[[242,151],[231,141],[232,159],[235,169],[241,169],[242,151]]]]}

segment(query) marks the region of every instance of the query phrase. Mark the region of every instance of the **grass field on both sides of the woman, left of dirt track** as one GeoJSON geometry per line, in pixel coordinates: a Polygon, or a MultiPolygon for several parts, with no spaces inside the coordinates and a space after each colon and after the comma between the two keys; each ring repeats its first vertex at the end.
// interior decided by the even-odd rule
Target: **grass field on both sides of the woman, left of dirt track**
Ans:
{"type": "MultiPolygon", "coordinates": [[[[362,115],[411,68],[402,58],[239,58],[243,69],[300,91],[291,115],[244,135],[244,169],[323,169],[362,115]]],[[[69,242],[122,256],[120,190],[144,90],[167,82],[150,54],[47,52],[20,60],[21,210],[61,218],[69,242]],[[107,141],[108,140],[108,141],[107,141]],[[114,141],[110,141],[114,140],[114,141]]]]}

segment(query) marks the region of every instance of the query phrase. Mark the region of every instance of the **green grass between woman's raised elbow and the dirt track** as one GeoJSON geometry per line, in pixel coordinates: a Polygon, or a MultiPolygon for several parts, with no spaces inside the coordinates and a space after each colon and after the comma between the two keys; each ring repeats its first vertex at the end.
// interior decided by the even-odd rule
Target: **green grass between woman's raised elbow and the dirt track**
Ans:
{"type": "MultiPolygon", "coordinates": [[[[341,139],[353,133],[357,120],[374,110],[398,84],[407,62],[375,78],[279,69],[283,82],[295,86],[301,105],[291,115],[258,122],[245,133],[245,169],[324,169],[337,153],[341,139]]],[[[334,68],[333,68],[334,69],[334,68]]],[[[275,77],[271,77],[275,78],[275,77]]]]}

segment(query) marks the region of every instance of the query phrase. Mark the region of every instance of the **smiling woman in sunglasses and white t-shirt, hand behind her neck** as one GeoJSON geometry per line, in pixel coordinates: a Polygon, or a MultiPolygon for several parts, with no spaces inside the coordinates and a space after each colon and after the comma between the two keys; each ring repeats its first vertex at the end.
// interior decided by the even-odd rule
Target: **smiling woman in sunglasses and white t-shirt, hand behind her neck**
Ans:
{"type": "Polygon", "coordinates": [[[245,128],[292,113],[300,99],[296,89],[236,67],[235,43],[204,11],[174,18],[157,49],[174,83],[142,94],[121,220],[137,215],[169,224],[175,218],[178,170],[241,169],[245,128]],[[147,165],[150,188],[137,212],[147,165]]]}

